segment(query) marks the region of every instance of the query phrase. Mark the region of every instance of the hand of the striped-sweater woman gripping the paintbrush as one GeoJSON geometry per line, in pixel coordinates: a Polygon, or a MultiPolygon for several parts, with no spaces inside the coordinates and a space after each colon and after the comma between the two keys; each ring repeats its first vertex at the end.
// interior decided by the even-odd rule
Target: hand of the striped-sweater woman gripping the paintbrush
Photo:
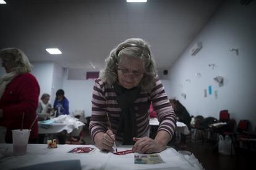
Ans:
{"type": "Polygon", "coordinates": [[[96,147],[98,147],[100,150],[105,151],[111,151],[113,150],[113,145],[115,141],[114,134],[111,130],[106,131],[106,133],[99,132],[95,136],[95,144],[96,147]]]}

